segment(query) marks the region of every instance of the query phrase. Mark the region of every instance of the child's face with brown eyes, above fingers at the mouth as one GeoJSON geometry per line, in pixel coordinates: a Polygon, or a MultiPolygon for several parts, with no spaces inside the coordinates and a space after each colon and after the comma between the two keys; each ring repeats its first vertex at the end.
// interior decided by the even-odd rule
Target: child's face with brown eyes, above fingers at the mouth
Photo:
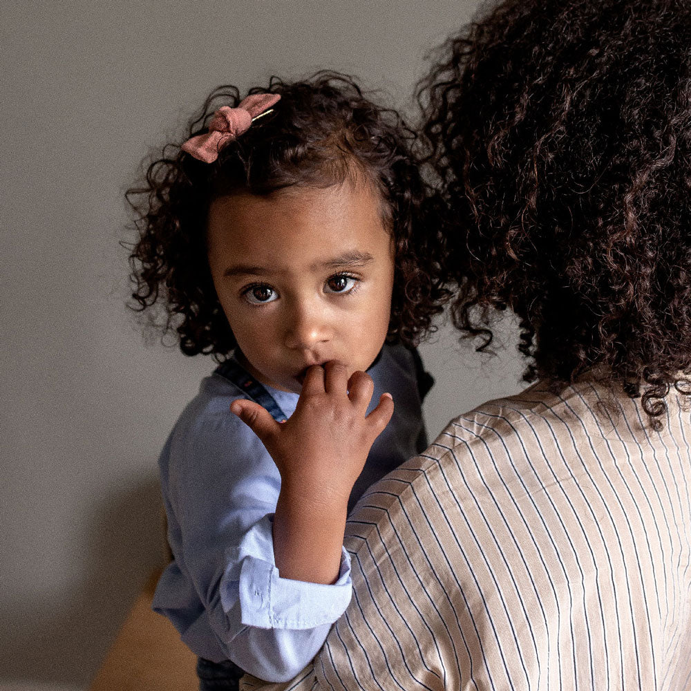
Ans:
{"type": "Polygon", "coordinates": [[[299,392],[307,367],[366,370],[388,331],[394,245],[363,183],[239,193],[209,209],[218,299],[259,381],[299,392]]]}

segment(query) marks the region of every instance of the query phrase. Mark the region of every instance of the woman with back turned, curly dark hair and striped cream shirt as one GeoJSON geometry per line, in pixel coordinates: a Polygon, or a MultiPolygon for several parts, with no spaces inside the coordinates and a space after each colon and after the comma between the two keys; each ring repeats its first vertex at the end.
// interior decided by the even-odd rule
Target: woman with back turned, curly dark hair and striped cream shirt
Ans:
{"type": "Polygon", "coordinates": [[[679,0],[506,0],[444,46],[455,324],[482,349],[512,310],[533,384],[361,499],[350,605],[281,688],[691,688],[690,31],[679,0]]]}

